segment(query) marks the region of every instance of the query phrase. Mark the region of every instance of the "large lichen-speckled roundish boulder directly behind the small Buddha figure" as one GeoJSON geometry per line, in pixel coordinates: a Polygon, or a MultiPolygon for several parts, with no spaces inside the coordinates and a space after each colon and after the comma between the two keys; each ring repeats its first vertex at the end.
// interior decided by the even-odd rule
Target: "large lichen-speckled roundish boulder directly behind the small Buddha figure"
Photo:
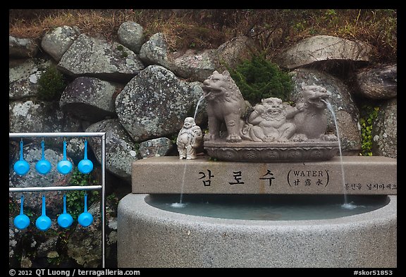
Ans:
{"type": "Polygon", "coordinates": [[[179,80],[162,66],[148,66],[116,97],[121,125],[136,142],[178,133],[193,116],[202,87],[179,80]]]}

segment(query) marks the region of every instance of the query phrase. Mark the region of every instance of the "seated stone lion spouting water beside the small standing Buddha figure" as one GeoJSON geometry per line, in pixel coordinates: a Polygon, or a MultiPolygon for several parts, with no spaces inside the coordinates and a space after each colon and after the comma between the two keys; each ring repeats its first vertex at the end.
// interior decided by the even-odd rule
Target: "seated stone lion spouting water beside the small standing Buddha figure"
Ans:
{"type": "Polygon", "coordinates": [[[228,134],[226,142],[240,142],[240,132],[244,125],[242,117],[247,104],[230,73],[227,70],[223,73],[215,70],[204,80],[202,89],[207,99],[209,119],[209,134],[205,135],[204,139],[218,140],[221,137],[221,127],[225,125],[228,134]]]}

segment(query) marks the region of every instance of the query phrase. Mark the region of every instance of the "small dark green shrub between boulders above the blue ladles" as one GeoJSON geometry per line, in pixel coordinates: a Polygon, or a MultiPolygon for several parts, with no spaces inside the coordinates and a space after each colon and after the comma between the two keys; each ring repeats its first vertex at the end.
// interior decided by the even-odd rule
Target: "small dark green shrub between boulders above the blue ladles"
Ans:
{"type": "Polygon", "coordinates": [[[65,87],[63,74],[56,66],[49,66],[38,79],[37,98],[44,101],[59,100],[65,87]]]}

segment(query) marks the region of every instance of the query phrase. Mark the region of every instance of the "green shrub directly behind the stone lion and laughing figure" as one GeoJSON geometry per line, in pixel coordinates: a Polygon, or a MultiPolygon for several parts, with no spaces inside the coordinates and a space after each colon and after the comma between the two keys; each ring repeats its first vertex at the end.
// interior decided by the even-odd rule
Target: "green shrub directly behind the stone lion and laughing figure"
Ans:
{"type": "Polygon", "coordinates": [[[293,82],[288,73],[262,55],[252,56],[250,61],[240,63],[229,71],[244,99],[252,105],[268,97],[288,101],[293,90],[293,82]]]}

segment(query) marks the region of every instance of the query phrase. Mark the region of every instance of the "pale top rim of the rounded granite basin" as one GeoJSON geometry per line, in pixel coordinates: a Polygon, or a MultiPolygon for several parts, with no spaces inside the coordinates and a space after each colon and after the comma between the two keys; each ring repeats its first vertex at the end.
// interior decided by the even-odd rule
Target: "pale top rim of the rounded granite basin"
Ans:
{"type": "MultiPolygon", "coordinates": [[[[166,221],[166,223],[172,222],[176,225],[196,226],[199,225],[213,225],[223,226],[229,228],[235,226],[235,228],[340,228],[347,226],[353,228],[356,226],[362,226],[363,224],[380,224],[387,221],[396,221],[397,219],[397,195],[387,195],[388,203],[374,211],[368,211],[362,214],[355,214],[352,216],[343,216],[338,218],[329,219],[309,219],[309,220],[297,220],[297,221],[260,221],[260,220],[246,220],[246,219],[231,219],[231,218],[212,218],[208,216],[195,216],[189,214],[178,214],[173,211],[165,211],[153,207],[148,204],[146,199],[149,194],[133,194],[125,196],[125,201],[128,197],[133,197],[130,200],[131,211],[134,212],[133,216],[145,218],[146,220],[154,220],[156,222],[166,221]],[[147,219],[148,218],[148,219],[147,219]]],[[[121,202],[123,204],[123,202],[121,202]]]]}

